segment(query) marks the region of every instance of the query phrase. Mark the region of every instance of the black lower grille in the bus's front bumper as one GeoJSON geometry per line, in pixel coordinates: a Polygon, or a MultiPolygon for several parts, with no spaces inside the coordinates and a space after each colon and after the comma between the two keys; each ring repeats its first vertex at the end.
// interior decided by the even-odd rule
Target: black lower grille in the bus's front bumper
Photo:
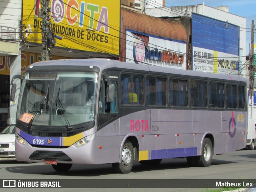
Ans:
{"type": "Polygon", "coordinates": [[[30,160],[59,160],[71,162],[72,159],[62,151],[34,151],[30,156],[30,160]]]}

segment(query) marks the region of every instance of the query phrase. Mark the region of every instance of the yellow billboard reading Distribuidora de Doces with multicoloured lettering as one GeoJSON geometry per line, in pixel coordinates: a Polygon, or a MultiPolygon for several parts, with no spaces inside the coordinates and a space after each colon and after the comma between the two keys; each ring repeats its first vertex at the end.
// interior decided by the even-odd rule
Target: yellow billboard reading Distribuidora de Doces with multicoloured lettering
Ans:
{"type": "MultiPolygon", "coordinates": [[[[23,0],[22,23],[32,28],[28,42],[41,44],[42,0],[23,0]]],[[[50,30],[56,47],[119,55],[120,0],[50,0],[50,30]]]]}

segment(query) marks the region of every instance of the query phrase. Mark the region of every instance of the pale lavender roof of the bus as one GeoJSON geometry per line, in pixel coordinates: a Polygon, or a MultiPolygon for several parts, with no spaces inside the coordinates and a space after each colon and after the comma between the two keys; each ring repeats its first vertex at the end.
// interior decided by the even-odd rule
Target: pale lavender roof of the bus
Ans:
{"type": "Polygon", "coordinates": [[[237,75],[213,74],[211,72],[191,71],[191,70],[170,68],[165,66],[160,67],[160,66],[154,66],[154,65],[148,65],[148,64],[127,63],[127,62],[120,62],[117,60],[102,59],[102,58],[50,60],[50,61],[36,62],[30,66],[46,66],[46,65],[49,68],[50,66],[96,66],[100,68],[100,71],[106,70],[108,68],[120,68],[120,69],[130,69],[130,70],[136,69],[136,70],[142,70],[142,71],[162,72],[165,74],[167,73],[167,74],[177,74],[177,75],[184,75],[184,76],[205,77],[205,78],[246,82],[245,78],[237,75]]]}

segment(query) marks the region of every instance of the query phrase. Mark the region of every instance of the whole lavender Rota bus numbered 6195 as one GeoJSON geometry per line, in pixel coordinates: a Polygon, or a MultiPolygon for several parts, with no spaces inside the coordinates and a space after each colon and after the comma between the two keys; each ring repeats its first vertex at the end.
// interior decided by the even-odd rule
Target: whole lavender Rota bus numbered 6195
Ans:
{"type": "Polygon", "coordinates": [[[56,171],[111,163],[186,158],[208,167],[212,156],[246,147],[246,80],[107,59],[36,62],[22,79],[16,116],[18,161],[56,171]]]}

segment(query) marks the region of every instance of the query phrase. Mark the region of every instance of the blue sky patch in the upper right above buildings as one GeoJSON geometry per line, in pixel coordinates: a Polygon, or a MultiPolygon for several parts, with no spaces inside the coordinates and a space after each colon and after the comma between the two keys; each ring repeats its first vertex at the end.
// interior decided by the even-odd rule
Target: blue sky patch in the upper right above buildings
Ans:
{"type": "MultiPolygon", "coordinates": [[[[165,6],[198,5],[203,4],[203,2],[210,7],[228,6],[229,13],[246,18],[246,54],[249,54],[252,20],[256,25],[256,0],[165,0],[165,6]]],[[[254,44],[256,44],[255,32],[254,44]]]]}

